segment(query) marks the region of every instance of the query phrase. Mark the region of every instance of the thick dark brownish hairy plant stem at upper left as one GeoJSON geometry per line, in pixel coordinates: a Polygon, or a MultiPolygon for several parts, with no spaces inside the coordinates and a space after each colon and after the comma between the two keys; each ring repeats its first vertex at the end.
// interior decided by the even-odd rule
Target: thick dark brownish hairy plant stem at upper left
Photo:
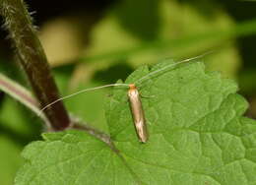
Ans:
{"type": "MultiPolygon", "coordinates": [[[[58,99],[59,93],[45,53],[32,27],[32,18],[23,0],[0,0],[0,3],[4,26],[10,32],[10,38],[32,85],[32,90],[40,106],[44,107],[58,99]]],[[[51,124],[51,129],[58,131],[70,126],[70,118],[62,101],[49,106],[44,113],[51,124]]]]}

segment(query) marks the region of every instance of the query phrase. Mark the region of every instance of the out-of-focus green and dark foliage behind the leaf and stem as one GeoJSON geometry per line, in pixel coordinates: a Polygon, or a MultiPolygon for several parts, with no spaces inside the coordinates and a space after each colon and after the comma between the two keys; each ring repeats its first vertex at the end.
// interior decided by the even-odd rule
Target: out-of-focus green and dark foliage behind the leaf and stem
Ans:
{"type": "MultiPolygon", "coordinates": [[[[26,1],[62,95],[115,83],[138,66],[206,56],[208,70],[239,84],[256,118],[256,1],[26,1]]],[[[30,89],[7,32],[0,34],[0,72],[30,89]]],[[[103,132],[108,90],[65,101],[71,113],[103,132]]],[[[0,184],[13,184],[22,149],[40,139],[41,121],[0,92],[0,184]]]]}

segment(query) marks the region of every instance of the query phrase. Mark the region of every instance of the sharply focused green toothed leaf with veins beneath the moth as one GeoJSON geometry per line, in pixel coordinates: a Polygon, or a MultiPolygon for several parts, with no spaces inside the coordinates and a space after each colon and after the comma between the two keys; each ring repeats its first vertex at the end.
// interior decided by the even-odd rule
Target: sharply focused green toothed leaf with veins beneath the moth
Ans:
{"type": "MultiPolygon", "coordinates": [[[[126,83],[148,73],[142,67],[126,83]]],[[[82,131],[44,134],[25,149],[16,184],[256,183],[256,122],[242,116],[248,105],[232,81],[191,63],[138,87],[152,96],[142,98],[148,143],[136,136],[127,90],[115,88],[105,108],[114,146],[82,131]]]]}

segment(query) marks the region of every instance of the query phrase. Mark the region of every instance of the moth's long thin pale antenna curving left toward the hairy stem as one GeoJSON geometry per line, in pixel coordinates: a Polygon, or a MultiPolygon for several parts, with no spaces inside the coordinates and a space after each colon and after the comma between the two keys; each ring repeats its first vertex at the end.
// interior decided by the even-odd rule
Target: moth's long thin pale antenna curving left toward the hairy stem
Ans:
{"type": "MultiPolygon", "coordinates": [[[[42,113],[43,110],[45,110],[46,108],[48,108],[49,106],[55,104],[56,102],[60,101],[60,100],[63,100],[63,99],[66,99],[66,98],[69,98],[69,97],[72,97],[74,95],[77,95],[77,94],[80,94],[80,93],[83,93],[83,92],[91,92],[91,91],[95,91],[95,90],[99,90],[99,89],[103,89],[103,88],[108,88],[108,87],[115,87],[115,86],[125,86],[125,87],[129,87],[129,85],[127,84],[110,84],[110,85],[104,85],[104,86],[99,86],[99,87],[96,87],[96,88],[89,88],[89,89],[85,89],[85,90],[81,90],[79,92],[74,92],[74,93],[71,93],[69,95],[66,95],[66,96],[63,96],[63,97],[60,97],[54,101],[52,101],[51,103],[45,105],[44,107],[42,107],[40,109],[40,113],[42,113]]],[[[39,115],[38,114],[38,115],[39,115]]]]}

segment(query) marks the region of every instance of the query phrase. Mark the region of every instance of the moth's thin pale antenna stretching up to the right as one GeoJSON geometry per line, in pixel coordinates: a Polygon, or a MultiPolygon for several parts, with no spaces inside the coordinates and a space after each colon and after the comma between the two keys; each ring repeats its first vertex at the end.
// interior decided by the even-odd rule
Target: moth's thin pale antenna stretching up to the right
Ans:
{"type": "Polygon", "coordinates": [[[145,76],[142,77],[141,79],[137,80],[135,83],[136,83],[136,84],[139,83],[139,82],[141,83],[141,82],[143,82],[144,80],[146,80],[148,77],[150,77],[150,76],[152,76],[152,75],[155,75],[155,74],[157,74],[157,73],[159,73],[159,72],[161,72],[161,71],[163,71],[163,70],[165,70],[165,69],[168,69],[168,68],[171,68],[171,67],[175,67],[176,65],[179,65],[179,64],[182,64],[182,63],[186,63],[186,62],[189,62],[189,61],[198,59],[198,58],[202,58],[202,57],[204,57],[204,56],[206,56],[206,55],[209,55],[209,54],[211,54],[211,53],[213,53],[213,52],[215,52],[215,51],[208,51],[208,52],[206,52],[206,53],[203,53],[203,54],[201,54],[201,55],[198,55],[198,56],[195,56],[195,57],[192,57],[192,58],[187,58],[187,59],[181,60],[181,61],[179,61],[179,62],[171,63],[171,64],[166,65],[165,67],[163,67],[163,68],[161,68],[161,69],[159,69],[159,70],[156,70],[156,71],[154,71],[154,72],[152,72],[152,73],[149,73],[148,75],[145,75],[145,76]]]}

